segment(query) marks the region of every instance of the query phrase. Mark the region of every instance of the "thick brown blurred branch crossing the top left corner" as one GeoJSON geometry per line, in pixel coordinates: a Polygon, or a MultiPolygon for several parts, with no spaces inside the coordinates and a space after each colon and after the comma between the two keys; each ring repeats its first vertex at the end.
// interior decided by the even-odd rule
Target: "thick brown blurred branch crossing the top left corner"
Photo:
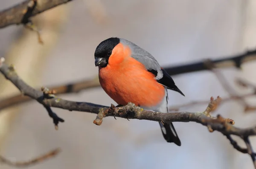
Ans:
{"type": "Polygon", "coordinates": [[[11,8],[0,11],[0,28],[14,24],[27,24],[30,17],[71,0],[25,0],[11,8]]]}

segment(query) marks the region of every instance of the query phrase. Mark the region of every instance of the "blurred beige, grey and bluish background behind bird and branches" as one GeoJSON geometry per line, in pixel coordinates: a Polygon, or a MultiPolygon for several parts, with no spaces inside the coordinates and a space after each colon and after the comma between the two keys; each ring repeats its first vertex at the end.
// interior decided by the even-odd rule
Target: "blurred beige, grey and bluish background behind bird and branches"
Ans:
{"type": "MultiPolygon", "coordinates": [[[[0,10],[22,0],[1,0],[0,10]]],[[[94,51],[109,37],[128,39],[150,52],[162,65],[180,65],[216,59],[256,48],[255,0],[73,0],[32,19],[41,31],[12,25],[0,30],[0,56],[14,64],[17,73],[33,87],[59,85],[95,78],[94,51]]],[[[221,70],[229,85],[243,78],[256,84],[256,62],[242,69],[221,70]]],[[[169,105],[227,97],[210,71],[173,76],[186,97],[169,91],[169,105]]],[[[0,99],[18,94],[0,76],[0,99]]],[[[61,95],[64,99],[95,104],[116,104],[101,87],[61,95]]],[[[255,103],[255,99],[247,100],[255,103]]],[[[204,111],[207,104],[180,109],[204,111]]],[[[0,112],[0,154],[12,161],[26,161],[53,148],[61,153],[30,169],[241,169],[253,168],[219,132],[194,122],[175,122],[182,145],[167,143],[157,122],[113,117],[101,126],[95,114],[53,108],[65,122],[56,131],[46,110],[36,101],[0,112]]],[[[215,114],[232,118],[236,127],[255,125],[256,113],[244,113],[238,101],[221,104],[215,114]]],[[[251,138],[256,146],[256,139],[251,138]]],[[[238,142],[243,145],[242,141],[238,142]]],[[[0,164],[3,169],[15,167],[0,164]]]]}

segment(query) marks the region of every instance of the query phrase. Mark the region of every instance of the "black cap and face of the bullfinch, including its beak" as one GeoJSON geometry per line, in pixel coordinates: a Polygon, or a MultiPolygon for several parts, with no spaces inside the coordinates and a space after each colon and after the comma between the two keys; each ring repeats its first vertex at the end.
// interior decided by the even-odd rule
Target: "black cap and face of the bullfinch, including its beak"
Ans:
{"type": "Polygon", "coordinates": [[[102,41],[96,48],[94,53],[95,66],[106,67],[108,65],[108,59],[112,54],[113,48],[119,44],[120,39],[117,37],[111,37],[102,41]]]}

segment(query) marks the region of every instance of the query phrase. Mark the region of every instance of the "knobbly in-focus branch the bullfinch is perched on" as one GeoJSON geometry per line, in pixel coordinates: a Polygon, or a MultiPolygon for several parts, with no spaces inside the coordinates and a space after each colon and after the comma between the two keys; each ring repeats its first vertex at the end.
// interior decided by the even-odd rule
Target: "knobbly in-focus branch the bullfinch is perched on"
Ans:
{"type": "Polygon", "coordinates": [[[34,88],[27,85],[19,78],[13,67],[5,65],[4,58],[0,59],[0,72],[11,81],[20,91],[26,96],[31,97],[32,99],[37,100],[40,104],[43,104],[46,107],[49,115],[53,118],[54,124],[57,127],[58,122],[64,122],[61,118],[58,117],[55,113],[52,112],[50,107],[58,107],[70,111],[82,111],[90,112],[97,114],[96,119],[93,121],[96,125],[101,125],[104,117],[114,116],[121,118],[131,118],[139,120],[150,120],[150,121],[161,121],[163,123],[170,123],[175,121],[180,122],[189,122],[194,121],[208,127],[209,132],[219,131],[223,135],[226,135],[230,140],[230,143],[238,151],[247,153],[255,162],[255,153],[252,151],[250,141],[248,136],[256,135],[256,127],[241,129],[234,127],[235,122],[229,118],[223,118],[221,115],[213,117],[210,115],[211,112],[218,108],[218,105],[221,102],[221,98],[213,99],[211,97],[210,103],[208,104],[206,110],[202,113],[191,113],[191,112],[179,112],[179,113],[160,113],[152,112],[148,110],[143,110],[140,107],[135,106],[133,103],[128,103],[125,106],[115,107],[111,104],[111,107],[106,107],[102,105],[87,103],[87,102],[76,102],[68,101],[61,98],[57,98],[53,90],[48,90],[43,87],[43,91],[35,90],[34,88]],[[62,121],[61,121],[62,120],[62,121]],[[242,138],[247,145],[247,149],[241,148],[237,144],[232,142],[230,135],[237,135],[242,138]],[[236,146],[235,146],[236,145],[236,146]]]}

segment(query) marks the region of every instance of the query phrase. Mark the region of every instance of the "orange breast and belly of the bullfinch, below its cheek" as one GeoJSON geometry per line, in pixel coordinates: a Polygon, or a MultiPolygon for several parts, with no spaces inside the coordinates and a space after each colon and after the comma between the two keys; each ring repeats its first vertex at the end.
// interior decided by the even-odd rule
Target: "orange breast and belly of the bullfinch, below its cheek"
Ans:
{"type": "Polygon", "coordinates": [[[157,83],[142,63],[130,56],[119,64],[99,68],[99,82],[103,90],[122,105],[132,102],[153,107],[160,104],[165,95],[163,85],[157,83]]]}

